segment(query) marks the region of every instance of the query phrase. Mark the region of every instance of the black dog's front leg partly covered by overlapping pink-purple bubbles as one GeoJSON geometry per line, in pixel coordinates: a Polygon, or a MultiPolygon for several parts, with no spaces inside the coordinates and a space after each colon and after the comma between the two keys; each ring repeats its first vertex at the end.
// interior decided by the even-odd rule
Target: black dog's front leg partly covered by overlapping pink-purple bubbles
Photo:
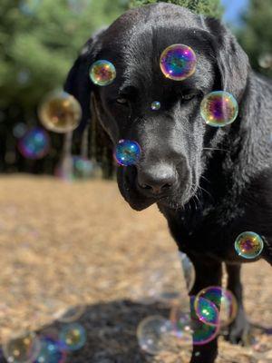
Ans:
{"type": "MultiPolygon", "coordinates": [[[[209,286],[221,286],[222,265],[217,260],[198,259],[189,256],[196,270],[196,281],[189,291],[190,296],[195,296],[201,289],[209,286]]],[[[193,318],[193,317],[192,317],[193,318]]],[[[218,338],[207,344],[194,345],[190,363],[213,363],[218,355],[218,338]]]]}

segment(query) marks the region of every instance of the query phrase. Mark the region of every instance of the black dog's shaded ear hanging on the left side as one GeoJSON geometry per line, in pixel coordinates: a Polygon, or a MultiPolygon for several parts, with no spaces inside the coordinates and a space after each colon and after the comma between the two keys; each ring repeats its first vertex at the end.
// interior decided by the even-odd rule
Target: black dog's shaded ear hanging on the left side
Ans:
{"type": "Polygon", "coordinates": [[[88,155],[102,165],[103,176],[108,178],[112,177],[114,172],[112,142],[108,134],[102,129],[96,108],[93,107],[92,99],[95,85],[90,79],[90,67],[95,61],[98,51],[95,49],[95,43],[100,34],[102,32],[96,34],[83,46],[83,51],[73,64],[63,89],[65,92],[73,94],[83,110],[83,117],[75,132],[75,139],[82,138],[83,131],[87,129],[90,145],[88,155]]]}

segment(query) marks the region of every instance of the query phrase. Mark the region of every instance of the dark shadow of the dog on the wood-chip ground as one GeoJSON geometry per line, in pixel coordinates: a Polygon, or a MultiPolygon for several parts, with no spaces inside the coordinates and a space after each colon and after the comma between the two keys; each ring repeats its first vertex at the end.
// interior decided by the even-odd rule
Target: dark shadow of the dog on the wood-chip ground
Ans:
{"type": "MultiPolygon", "coordinates": [[[[83,348],[69,354],[65,362],[73,363],[144,363],[150,361],[139,347],[136,330],[141,319],[151,315],[169,318],[170,309],[159,302],[142,304],[131,300],[114,300],[85,307],[76,322],[87,332],[83,348]]],[[[57,329],[65,323],[54,321],[38,331],[57,329]]]]}

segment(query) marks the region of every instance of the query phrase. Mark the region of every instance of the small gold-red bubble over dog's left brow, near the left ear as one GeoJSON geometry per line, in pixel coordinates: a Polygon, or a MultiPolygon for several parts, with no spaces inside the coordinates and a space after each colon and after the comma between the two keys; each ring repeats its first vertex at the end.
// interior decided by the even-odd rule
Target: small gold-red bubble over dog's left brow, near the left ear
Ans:
{"type": "Polygon", "coordinates": [[[94,84],[109,85],[116,78],[116,69],[109,61],[96,61],[92,64],[90,77],[94,84]]]}

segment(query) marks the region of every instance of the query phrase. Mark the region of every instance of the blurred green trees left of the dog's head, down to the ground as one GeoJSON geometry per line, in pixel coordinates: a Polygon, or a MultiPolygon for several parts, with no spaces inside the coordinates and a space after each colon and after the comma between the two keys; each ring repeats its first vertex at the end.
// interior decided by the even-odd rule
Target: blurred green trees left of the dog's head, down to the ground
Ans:
{"type": "Polygon", "coordinates": [[[1,0],[0,171],[52,172],[62,135],[51,134],[45,161],[24,160],[16,150],[15,123],[38,123],[36,108],[44,94],[62,88],[92,32],[127,7],[128,0],[1,0]]]}

